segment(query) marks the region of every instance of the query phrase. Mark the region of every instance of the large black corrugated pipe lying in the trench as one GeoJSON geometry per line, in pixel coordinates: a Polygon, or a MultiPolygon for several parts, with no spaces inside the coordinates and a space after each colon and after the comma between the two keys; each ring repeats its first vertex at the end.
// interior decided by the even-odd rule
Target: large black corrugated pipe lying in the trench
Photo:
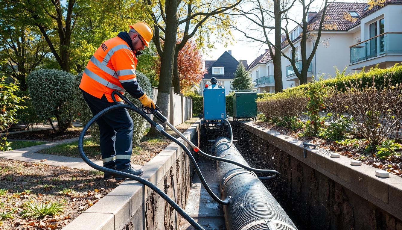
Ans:
{"type": "MultiPolygon", "coordinates": [[[[227,137],[215,140],[215,155],[245,164],[242,155],[227,137]]],[[[223,206],[228,230],[297,230],[254,172],[227,162],[217,162],[222,197],[231,202],[223,206]]]]}

